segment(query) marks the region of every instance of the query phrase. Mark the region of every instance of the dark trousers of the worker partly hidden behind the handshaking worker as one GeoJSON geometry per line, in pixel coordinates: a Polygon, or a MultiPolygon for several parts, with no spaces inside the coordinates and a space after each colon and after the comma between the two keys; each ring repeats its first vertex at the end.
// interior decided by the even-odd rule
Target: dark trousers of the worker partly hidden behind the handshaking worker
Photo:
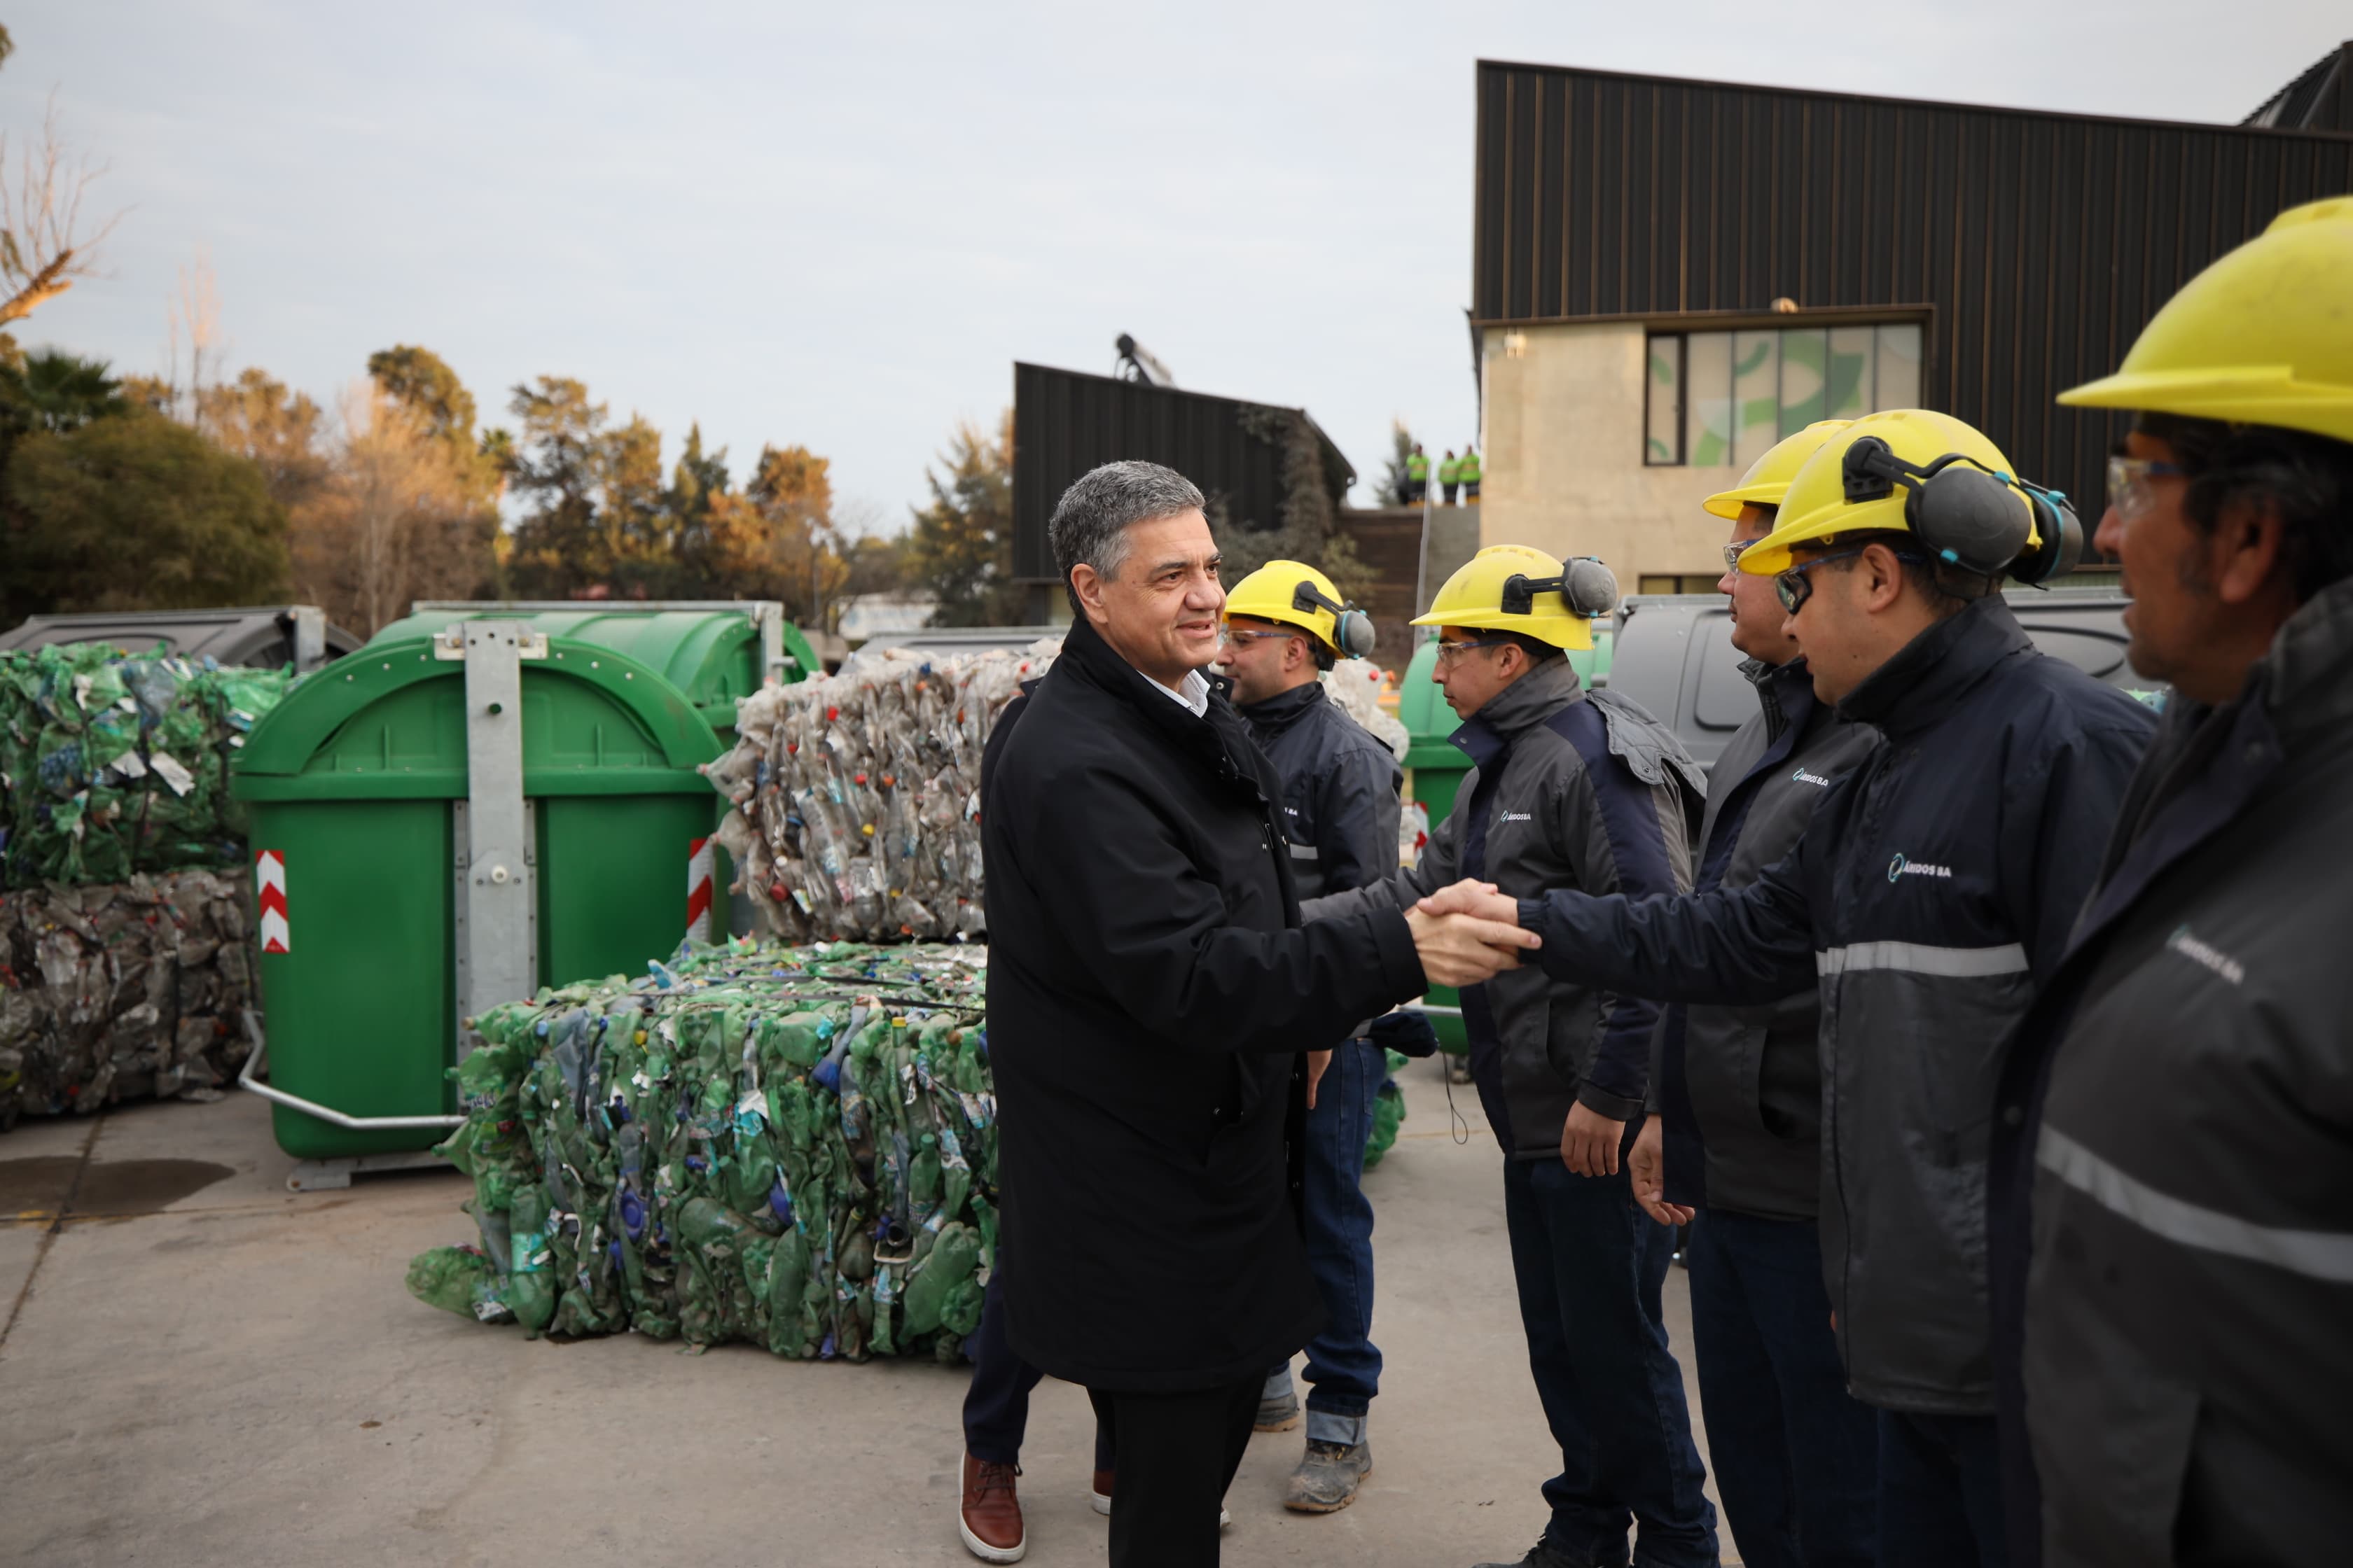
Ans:
{"type": "Polygon", "coordinates": [[[1847,1394],[1812,1220],[1704,1208],[1685,1241],[1699,1408],[1748,1568],[1878,1561],[1878,1413],[1847,1394]]]}

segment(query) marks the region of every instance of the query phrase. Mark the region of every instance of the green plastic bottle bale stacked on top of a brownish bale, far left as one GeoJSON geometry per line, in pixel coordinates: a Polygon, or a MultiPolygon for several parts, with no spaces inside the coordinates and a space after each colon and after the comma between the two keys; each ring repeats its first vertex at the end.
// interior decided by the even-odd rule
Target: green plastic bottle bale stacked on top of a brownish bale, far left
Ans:
{"type": "Polygon", "coordinates": [[[0,884],[242,863],[228,759],[292,682],[94,642],[0,651],[0,884]]]}

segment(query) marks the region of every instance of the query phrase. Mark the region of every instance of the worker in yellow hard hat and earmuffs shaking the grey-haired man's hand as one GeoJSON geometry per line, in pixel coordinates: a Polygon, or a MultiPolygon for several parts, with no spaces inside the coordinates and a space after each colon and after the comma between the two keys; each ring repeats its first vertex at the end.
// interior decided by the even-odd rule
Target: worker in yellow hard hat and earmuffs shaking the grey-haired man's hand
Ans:
{"type": "Polygon", "coordinates": [[[1948,414],[1831,430],[1739,552],[1772,578],[1814,698],[1880,736],[1809,785],[1824,797],[1795,846],[1689,898],[1560,879],[1424,903],[1515,917],[1548,976],[1614,994],[1762,1009],[1819,990],[1824,1279],[1845,1382],[1875,1408],[1878,1533],[1899,1561],[1920,1542],[2005,1556],[1984,1307],[2000,1041],[2066,952],[2153,729],[2035,651],[1998,592],[2078,548],[2066,498],[1948,414]]]}

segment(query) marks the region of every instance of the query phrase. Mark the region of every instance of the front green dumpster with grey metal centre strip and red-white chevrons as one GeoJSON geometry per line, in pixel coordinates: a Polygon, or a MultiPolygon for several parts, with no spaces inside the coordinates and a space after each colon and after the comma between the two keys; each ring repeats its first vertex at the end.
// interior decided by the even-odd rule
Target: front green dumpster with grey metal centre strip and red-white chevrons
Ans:
{"type": "Polygon", "coordinates": [[[296,686],[231,783],[278,1145],[424,1150],[464,1018],[671,954],[718,750],[656,668],[513,621],[379,637],[296,686]]]}

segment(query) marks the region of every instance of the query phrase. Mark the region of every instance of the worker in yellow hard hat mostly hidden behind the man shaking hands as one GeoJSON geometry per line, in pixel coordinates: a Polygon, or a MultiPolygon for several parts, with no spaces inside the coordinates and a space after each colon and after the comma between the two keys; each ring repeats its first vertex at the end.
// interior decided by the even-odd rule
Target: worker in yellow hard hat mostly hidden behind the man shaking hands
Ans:
{"type": "MultiPolygon", "coordinates": [[[[1725,595],[1732,646],[1758,712],[1708,773],[1694,889],[1741,889],[1805,835],[1814,806],[1878,748],[1814,701],[1772,578],[1739,569],[1772,531],[1791,480],[1845,418],[1784,437],[1704,508],[1732,524],[1725,595]]],[[[1871,1563],[1878,1556],[1878,1415],[1847,1392],[1821,1284],[1821,1016],[1814,997],[1758,1009],[1671,1006],[1659,1030],[1657,1107],[1631,1154],[1633,1197],[1685,1225],[1692,1349],[1708,1462],[1748,1563],[1871,1563]]]]}

